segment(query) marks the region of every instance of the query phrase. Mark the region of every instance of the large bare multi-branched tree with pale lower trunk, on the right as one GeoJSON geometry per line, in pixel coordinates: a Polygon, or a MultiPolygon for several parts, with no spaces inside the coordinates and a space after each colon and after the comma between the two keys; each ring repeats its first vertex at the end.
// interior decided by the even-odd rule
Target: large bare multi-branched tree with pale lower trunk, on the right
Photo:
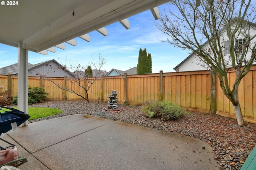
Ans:
{"type": "Polygon", "coordinates": [[[192,51],[202,66],[216,73],[241,126],[244,119],[238,86],[256,59],[255,3],[251,0],[201,0],[196,7],[196,0],[175,0],[156,24],[170,36],[163,42],[192,51]],[[234,83],[228,81],[230,69],[236,70],[234,83]]]}

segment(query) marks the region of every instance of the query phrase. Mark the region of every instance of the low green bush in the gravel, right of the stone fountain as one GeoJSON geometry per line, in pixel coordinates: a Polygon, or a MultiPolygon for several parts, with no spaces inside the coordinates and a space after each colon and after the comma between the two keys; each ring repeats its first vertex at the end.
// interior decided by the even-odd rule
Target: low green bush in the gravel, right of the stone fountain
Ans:
{"type": "Polygon", "coordinates": [[[142,107],[142,111],[148,115],[148,117],[161,117],[163,121],[176,120],[180,116],[188,114],[185,109],[181,108],[177,104],[168,101],[152,101],[146,106],[142,107]]]}

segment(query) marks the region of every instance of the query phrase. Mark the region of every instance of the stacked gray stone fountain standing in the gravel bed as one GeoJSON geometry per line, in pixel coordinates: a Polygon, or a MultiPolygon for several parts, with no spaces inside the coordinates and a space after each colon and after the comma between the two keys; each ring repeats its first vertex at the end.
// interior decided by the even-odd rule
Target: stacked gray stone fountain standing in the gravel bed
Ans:
{"type": "Polygon", "coordinates": [[[118,102],[118,98],[116,97],[117,94],[118,93],[116,92],[116,90],[111,91],[111,94],[108,95],[108,98],[109,98],[108,107],[105,107],[102,110],[110,111],[113,113],[120,112],[120,111],[124,110],[124,108],[120,107],[120,104],[119,105],[117,104],[117,102],[118,102]]]}

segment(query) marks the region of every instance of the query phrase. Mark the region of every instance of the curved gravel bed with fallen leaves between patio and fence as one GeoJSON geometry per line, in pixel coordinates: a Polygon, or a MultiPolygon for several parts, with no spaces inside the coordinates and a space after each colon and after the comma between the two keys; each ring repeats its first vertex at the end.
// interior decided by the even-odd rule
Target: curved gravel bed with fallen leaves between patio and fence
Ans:
{"type": "Polygon", "coordinates": [[[29,121],[41,121],[72,114],[88,114],[135,125],[176,132],[181,135],[195,137],[209,143],[215,153],[215,159],[223,170],[239,170],[256,145],[256,124],[247,123],[245,127],[237,125],[236,119],[220,115],[191,112],[176,121],[161,121],[160,119],[142,115],[141,106],[122,106],[120,113],[102,111],[106,103],[76,101],[47,101],[32,104],[29,107],[53,107],[62,109],[62,113],[46,118],[29,121]]]}

